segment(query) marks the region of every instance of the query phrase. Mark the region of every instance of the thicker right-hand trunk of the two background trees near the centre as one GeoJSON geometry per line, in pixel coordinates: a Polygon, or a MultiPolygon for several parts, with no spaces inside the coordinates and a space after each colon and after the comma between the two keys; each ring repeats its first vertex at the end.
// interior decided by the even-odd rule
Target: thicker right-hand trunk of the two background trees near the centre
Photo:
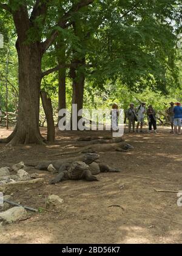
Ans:
{"type": "MultiPolygon", "coordinates": [[[[73,67],[70,68],[70,77],[72,78],[72,105],[77,105],[77,114],[80,109],[83,109],[83,95],[84,95],[84,67],[86,64],[85,58],[82,60],[74,60],[73,67]]],[[[71,118],[72,119],[72,118],[71,118]]],[[[78,121],[81,115],[78,117],[78,121]]],[[[72,122],[71,122],[72,124],[72,122]]],[[[78,127],[77,127],[78,128],[78,127]]]]}

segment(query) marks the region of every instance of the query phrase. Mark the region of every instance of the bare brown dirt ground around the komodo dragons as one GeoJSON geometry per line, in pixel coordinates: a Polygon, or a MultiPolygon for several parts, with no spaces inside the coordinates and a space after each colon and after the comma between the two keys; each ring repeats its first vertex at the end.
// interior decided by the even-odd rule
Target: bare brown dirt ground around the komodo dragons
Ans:
{"type": "MultiPolygon", "coordinates": [[[[12,188],[7,193],[14,201],[41,210],[29,212],[27,220],[0,226],[0,243],[181,243],[182,207],[177,206],[177,193],[153,189],[182,190],[182,137],[170,134],[169,128],[158,131],[125,133],[124,139],[135,147],[127,153],[99,152],[102,162],[122,170],[101,173],[99,181],[49,185],[53,175],[36,170],[44,184],[12,188]],[[64,199],[59,211],[44,209],[46,196],[52,194],[64,199]]],[[[11,132],[1,128],[0,137],[11,132]]],[[[46,131],[41,132],[45,136],[46,131]]],[[[78,144],[78,137],[92,135],[110,132],[56,131],[56,142],[46,146],[10,148],[0,144],[0,167],[50,159],[49,155],[59,153],[62,147],[78,144]]]]}

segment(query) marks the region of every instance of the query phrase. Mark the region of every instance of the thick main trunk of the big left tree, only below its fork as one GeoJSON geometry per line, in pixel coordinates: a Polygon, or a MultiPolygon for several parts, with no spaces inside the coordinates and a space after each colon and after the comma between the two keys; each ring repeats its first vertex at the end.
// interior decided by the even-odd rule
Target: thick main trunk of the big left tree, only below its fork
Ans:
{"type": "Polygon", "coordinates": [[[11,145],[43,144],[39,131],[41,49],[38,43],[16,42],[19,61],[19,107],[15,131],[6,139],[11,145]]]}

